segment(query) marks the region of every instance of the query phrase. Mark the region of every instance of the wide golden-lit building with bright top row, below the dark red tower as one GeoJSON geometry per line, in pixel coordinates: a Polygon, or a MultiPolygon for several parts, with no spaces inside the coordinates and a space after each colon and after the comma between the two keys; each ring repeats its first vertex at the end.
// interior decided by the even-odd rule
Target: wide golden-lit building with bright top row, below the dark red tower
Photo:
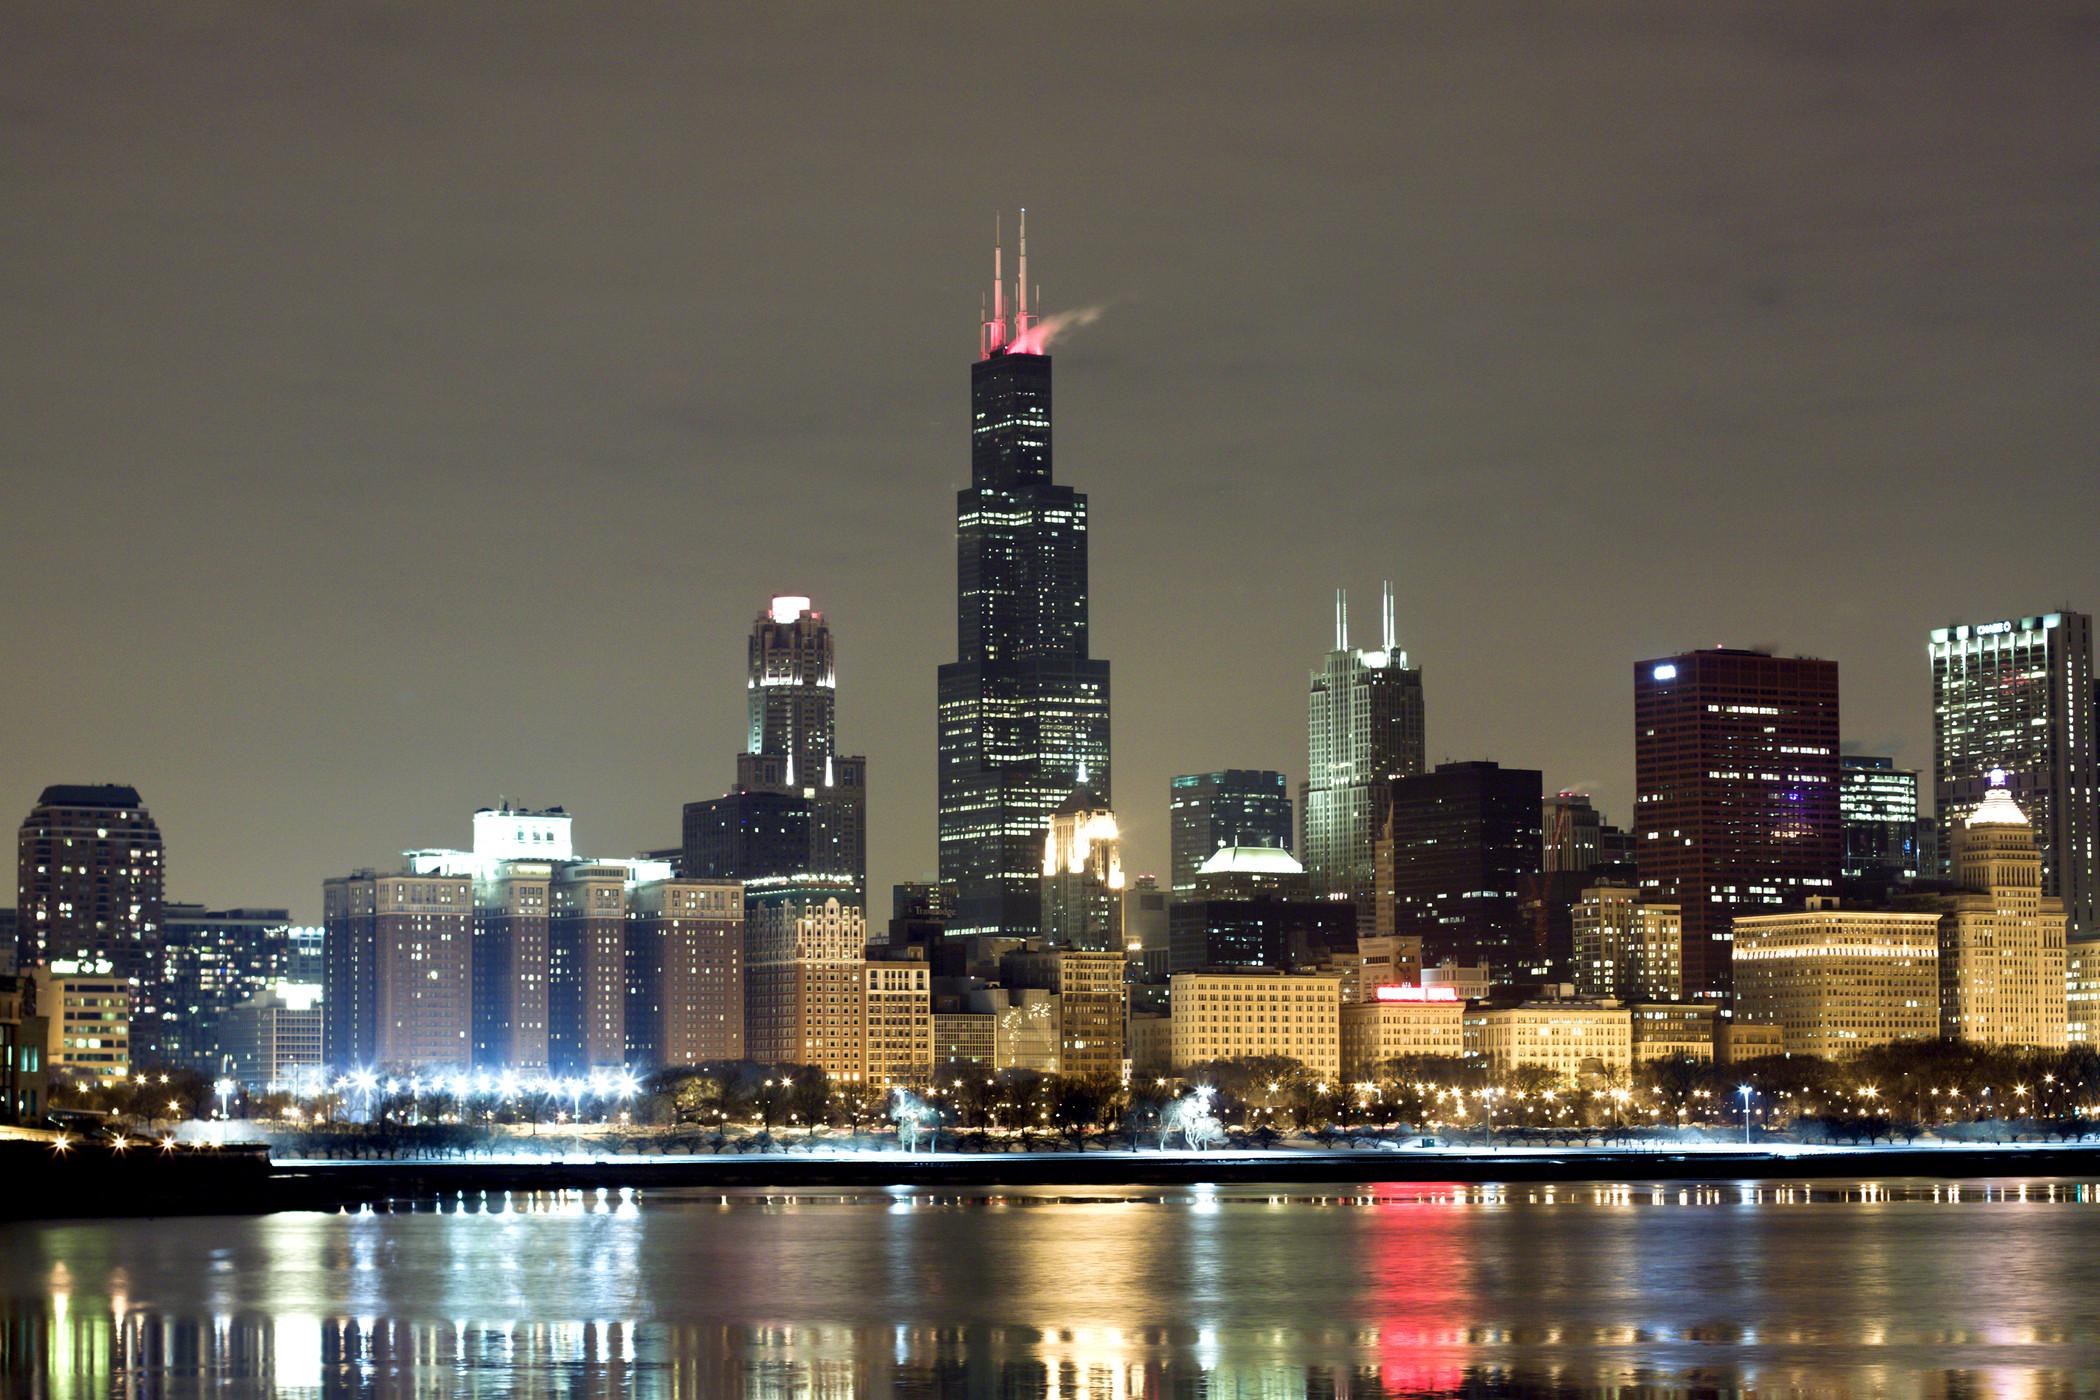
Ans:
{"type": "Polygon", "coordinates": [[[1735,921],[1735,1020],[1779,1026],[1787,1054],[1842,1060],[1940,1033],[1936,913],[1842,909],[1735,921]]]}

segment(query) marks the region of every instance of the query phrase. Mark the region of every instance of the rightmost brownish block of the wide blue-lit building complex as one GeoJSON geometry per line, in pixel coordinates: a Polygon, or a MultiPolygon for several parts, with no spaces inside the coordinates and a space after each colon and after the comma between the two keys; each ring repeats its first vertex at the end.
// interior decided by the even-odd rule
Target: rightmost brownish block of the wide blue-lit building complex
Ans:
{"type": "Polygon", "coordinates": [[[628,892],[628,1064],[743,1058],[743,886],[653,879],[628,892]]]}

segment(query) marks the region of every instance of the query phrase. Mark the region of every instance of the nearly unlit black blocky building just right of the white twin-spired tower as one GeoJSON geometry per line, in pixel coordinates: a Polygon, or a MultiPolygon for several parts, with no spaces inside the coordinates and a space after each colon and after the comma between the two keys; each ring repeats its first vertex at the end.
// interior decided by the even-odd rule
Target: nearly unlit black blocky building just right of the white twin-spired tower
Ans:
{"type": "Polygon", "coordinates": [[[1531,934],[1522,879],[1539,871],[1537,768],[1438,764],[1396,779],[1380,842],[1380,896],[1392,932],[1422,938],[1422,966],[1489,963],[1497,982],[1520,976],[1531,934]]]}

